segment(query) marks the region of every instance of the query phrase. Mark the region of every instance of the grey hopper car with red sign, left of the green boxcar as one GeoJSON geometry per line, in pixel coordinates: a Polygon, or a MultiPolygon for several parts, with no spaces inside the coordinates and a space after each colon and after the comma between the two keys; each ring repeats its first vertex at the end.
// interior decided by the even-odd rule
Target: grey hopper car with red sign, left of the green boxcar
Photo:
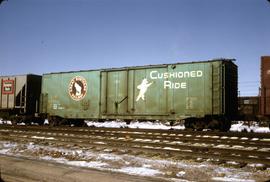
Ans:
{"type": "Polygon", "coordinates": [[[39,110],[41,80],[33,74],[1,76],[0,117],[13,122],[34,119],[39,110]]]}

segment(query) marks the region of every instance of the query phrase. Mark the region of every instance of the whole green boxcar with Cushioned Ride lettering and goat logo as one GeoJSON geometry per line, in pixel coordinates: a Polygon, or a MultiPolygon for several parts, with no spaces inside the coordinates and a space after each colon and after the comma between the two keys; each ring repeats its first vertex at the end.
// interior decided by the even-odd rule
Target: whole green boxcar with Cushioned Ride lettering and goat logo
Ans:
{"type": "Polygon", "coordinates": [[[44,74],[41,113],[52,125],[92,120],[185,120],[226,131],[237,115],[233,59],[44,74]]]}

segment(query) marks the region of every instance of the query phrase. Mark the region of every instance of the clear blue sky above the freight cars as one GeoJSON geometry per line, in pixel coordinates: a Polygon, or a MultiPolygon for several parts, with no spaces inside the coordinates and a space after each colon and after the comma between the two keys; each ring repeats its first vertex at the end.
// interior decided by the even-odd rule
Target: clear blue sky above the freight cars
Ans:
{"type": "Polygon", "coordinates": [[[235,58],[257,95],[270,55],[267,0],[8,0],[0,75],[235,58]]]}

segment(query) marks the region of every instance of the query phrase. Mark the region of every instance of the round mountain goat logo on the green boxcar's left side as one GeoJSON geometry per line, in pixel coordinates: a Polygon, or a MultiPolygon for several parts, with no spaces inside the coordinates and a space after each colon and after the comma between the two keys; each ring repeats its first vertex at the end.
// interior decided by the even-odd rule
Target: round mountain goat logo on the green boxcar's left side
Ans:
{"type": "Polygon", "coordinates": [[[87,82],[81,76],[76,76],[71,79],[69,83],[68,93],[70,97],[75,100],[79,101],[82,100],[87,92],[87,82]]]}

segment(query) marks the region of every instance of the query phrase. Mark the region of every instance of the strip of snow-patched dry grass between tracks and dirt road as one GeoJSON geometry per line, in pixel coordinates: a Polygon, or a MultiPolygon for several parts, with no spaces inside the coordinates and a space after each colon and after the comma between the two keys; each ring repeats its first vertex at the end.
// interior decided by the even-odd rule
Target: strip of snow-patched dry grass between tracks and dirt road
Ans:
{"type": "MultiPolygon", "coordinates": [[[[267,181],[270,169],[258,170],[251,165],[235,168],[228,164],[195,162],[160,156],[131,155],[111,149],[64,148],[30,143],[0,141],[0,154],[42,159],[61,164],[86,167],[131,175],[152,176],[164,181],[267,181]]],[[[211,161],[211,160],[209,160],[211,161]]]]}

